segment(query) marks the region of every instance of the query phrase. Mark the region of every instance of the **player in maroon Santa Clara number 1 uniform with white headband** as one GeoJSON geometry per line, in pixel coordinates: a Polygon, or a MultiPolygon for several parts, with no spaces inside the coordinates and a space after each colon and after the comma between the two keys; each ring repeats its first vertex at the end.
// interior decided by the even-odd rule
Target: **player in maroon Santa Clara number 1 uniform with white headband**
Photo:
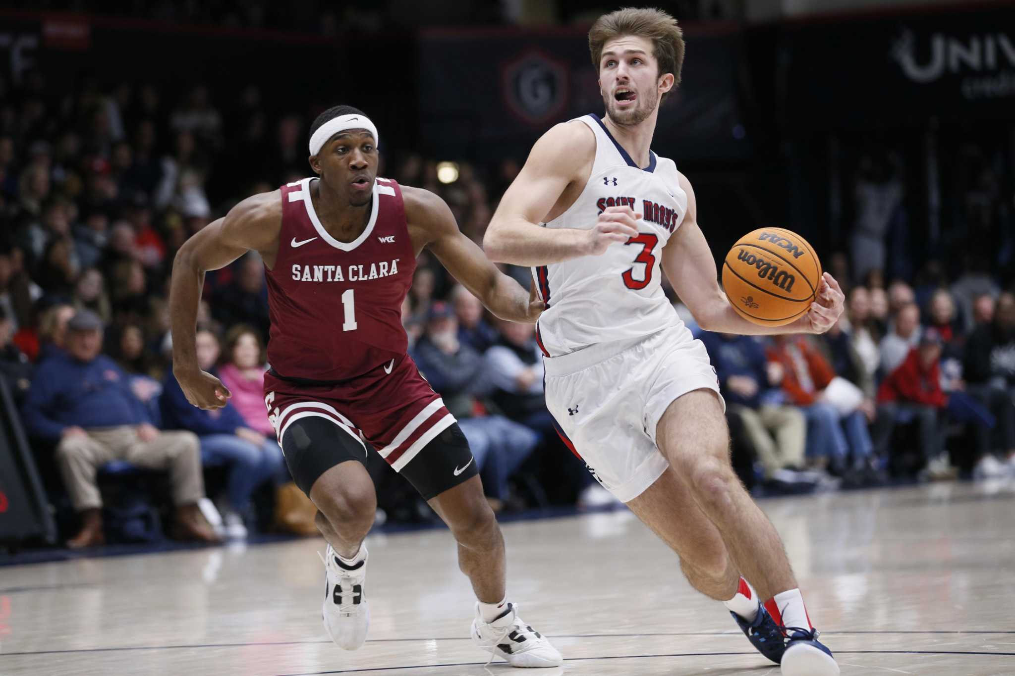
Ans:
{"type": "Polygon", "coordinates": [[[317,177],[244,200],[181,247],[170,300],[173,371],[194,405],[225,404],[229,391],[195,357],[201,285],[206,271],[259,252],[271,315],[265,403],[328,540],[328,634],[346,650],[366,637],[363,538],[377,510],[364,466],[368,444],[455,535],[459,565],[478,598],[473,642],[516,667],[557,666],[560,654],[506,600],[503,538],[472,453],[406,354],[401,323],[423,247],[498,317],[534,322],[543,302],[494,268],[438,197],[378,177],[379,141],[360,110],[325,111],[311,127],[317,177]]]}

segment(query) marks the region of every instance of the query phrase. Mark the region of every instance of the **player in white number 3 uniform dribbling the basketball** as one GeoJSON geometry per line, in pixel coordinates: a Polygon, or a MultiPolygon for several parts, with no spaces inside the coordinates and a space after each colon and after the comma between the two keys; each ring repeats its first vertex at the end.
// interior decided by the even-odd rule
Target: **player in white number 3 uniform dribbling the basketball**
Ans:
{"type": "Polygon", "coordinates": [[[557,125],[536,143],[484,239],[493,260],[533,267],[546,302],[536,325],[546,405],[564,443],[784,674],[837,674],[779,534],[730,466],[716,372],[660,288],[661,269],[701,327],[726,333],[822,332],[842,293],[825,275],[796,323],[742,319],[717,283],[690,183],[650,150],[659,104],[680,79],[676,20],[621,9],[596,21],[589,46],[606,117],[557,125]]]}

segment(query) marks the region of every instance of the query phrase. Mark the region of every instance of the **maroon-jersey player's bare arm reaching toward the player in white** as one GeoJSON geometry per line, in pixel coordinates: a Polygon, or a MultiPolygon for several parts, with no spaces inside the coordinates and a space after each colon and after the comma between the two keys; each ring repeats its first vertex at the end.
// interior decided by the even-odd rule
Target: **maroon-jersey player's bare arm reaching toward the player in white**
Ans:
{"type": "Polygon", "coordinates": [[[402,187],[405,216],[414,231],[452,276],[471,291],[490,312],[511,321],[534,323],[545,305],[536,297],[535,286],[526,291],[483,254],[474,241],[462,234],[451,209],[433,193],[402,187]]]}

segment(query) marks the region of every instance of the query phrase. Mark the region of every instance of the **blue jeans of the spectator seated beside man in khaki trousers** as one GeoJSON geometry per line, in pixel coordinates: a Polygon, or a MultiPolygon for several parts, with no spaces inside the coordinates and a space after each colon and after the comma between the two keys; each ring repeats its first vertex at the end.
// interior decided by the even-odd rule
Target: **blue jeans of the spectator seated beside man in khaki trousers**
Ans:
{"type": "Polygon", "coordinates": [[[229,506],[243,513],[254,491],[268,479],[281,475],[285,460],[282,449],[271,438],[261,446],[231,434],[201,437],[201,461],[209,467],[228,465],[226,498],[229,506]]]}

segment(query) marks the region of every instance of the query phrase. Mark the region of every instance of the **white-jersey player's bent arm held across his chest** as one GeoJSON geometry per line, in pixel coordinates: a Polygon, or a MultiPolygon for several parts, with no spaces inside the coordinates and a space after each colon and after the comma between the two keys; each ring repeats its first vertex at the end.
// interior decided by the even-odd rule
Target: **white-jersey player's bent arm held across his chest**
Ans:
{"type": "Polygon", "coordinates": [[[545,266],[599,255],[610,244],[637,236],[630,210],[619,207],[606,209],[587,230],[540,227],[568,185],[584,189],[595,157],[596,137],[585,123],[563,123],[544,134],[490,219],[483,236],[486,255],[496,262],[545,266]]]}

